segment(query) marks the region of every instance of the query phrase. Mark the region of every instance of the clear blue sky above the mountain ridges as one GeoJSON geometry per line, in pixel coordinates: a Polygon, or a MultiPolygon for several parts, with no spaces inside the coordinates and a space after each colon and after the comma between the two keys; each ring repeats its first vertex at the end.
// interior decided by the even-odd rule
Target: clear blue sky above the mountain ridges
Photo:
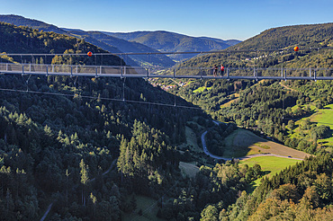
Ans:
{"type": "Polygon", "coordinates": [[[85,31],[174,31],[247,40],[270,28],[333,22],[332,0],[0,0],[18,14],[85,31]]]}

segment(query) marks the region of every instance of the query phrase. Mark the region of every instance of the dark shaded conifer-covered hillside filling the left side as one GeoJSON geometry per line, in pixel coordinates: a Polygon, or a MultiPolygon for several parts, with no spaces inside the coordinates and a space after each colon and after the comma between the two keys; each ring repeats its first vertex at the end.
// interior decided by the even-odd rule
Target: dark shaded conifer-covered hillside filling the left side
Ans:
{"type": "MultiPolygon", "coordinates": [[[[70,60],[66,55],[88,50],[106,53],[54,32],[3,22],[0,32],[1,52],[65,53],[52,61],[40,57],[24,61],[28,63],[82,65],[89,59],[70,60]]],[[[15,62],[15,57],[3,56],[2,62],[15,62]]],[[[121,59],[103,62],[119,65],[121,59]]],[[[126,199],[133,190],[153,196],[173,185],[181,157],[175,144],[184,139],[190,113],[112,99],[173,103],[174,96],[143,79],[31,76],[29,83],[27,79],[24,75],[0,78],[2,220],[39,219],[50,202],[54,219],[118,220],[121,211],[129,208],[126,199]],[[27,86],[29,91],[22,93],[27,86]],[[135,165],[130,167],[132,159],[135,165]],[[109,168],[111,175],[104,180],[102,173],[109,168]]],[[[189,105],[180,99],[176,102],[189,105]]]]}

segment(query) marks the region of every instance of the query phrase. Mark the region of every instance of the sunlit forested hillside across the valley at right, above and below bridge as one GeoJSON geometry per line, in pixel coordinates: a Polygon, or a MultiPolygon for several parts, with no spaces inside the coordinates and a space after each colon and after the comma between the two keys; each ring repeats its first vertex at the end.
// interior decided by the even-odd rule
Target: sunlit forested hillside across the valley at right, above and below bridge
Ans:
{"type": "MultiPolygon", "coordinates": [[[[275,28],[230,47],[233,52],[195,57],[181,66],[332,67],[333,50],[329,49],[333,42],[332,31],[332,23],[275,28]],[[293,51],[296,45],[301,49],[298,52],[293,51]],[[244,51],[247,49],[254,51],[244,51]]],[[[332,73],[328,71],[320,75],[332,73]]],[[[319,108],[331,103],[331,88],[329,81],[207,80],[176,86],[175,93],[201,106],[214,119],[236,122],[238,126],[275,137],[286,146],[313,154],[322,151],[317,141],[330,136],[329,127],[307,123],[300,128],[309,131],[308,135],[304,132],[303,136],[292,137],[293,124],[297,119],[310,116],[314,112],[311,106],[319,108]]]]}

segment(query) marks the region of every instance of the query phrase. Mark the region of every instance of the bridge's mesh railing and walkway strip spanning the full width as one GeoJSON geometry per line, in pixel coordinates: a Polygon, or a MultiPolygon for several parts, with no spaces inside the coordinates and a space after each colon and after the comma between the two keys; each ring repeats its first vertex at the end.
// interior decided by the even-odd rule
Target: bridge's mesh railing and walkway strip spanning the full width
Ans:
{"type": "Polygon", "coordinates": [[[82,75],[113,77],[175,77],[222,79],[333,80],[333,68],[225,67],[213,75],[211,67],[76,66],[0,63],[0,73],[23,75],[82,75]]]}

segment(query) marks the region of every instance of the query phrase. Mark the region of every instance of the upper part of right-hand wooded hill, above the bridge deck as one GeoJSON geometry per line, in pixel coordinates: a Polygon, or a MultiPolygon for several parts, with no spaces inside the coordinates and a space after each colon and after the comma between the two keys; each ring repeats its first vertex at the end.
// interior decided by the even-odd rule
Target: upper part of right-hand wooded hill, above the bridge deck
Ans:
{"type": "MultiPolygon", "coordinates": [[[[228,48],[230,51],[253,50],[254,52],[228,53],[226,51],[220,54],[208,54],[185,61],[182,66],[214,66],[216,64],[223,64],[223,66],[237,67],[268,67],[278,66],[281,63],[284,63],[284,66],[293,66],[295,63],[297,63],[298,66],[304,66],[305,63],[308,67],[317,66],[320,56],[327,54],[329,50],[321,50],[319,54],[316,49],[332,47],[332,33],[333,23],[294,25],[269,29],[251,39],[242,41],[228,48]],[[301,49],[297,57],[293,53],[293,47],[295,46],[301,49]],[[302,50],[310,48],[312,48],[311,51],[302,50]],[[285,51],[284,53],[278,51],[271,53],[255,51],[261,49],[291,50],[285,51]],[[309,57],[307,55],[311,56],[309,57]],[[256,57],[260,57],[260,59],[256,57]],[[312,64],[310,62],[311,59],[312,64]]],[[[326,59],[323,60],[325,61],[326,59]]]]}

